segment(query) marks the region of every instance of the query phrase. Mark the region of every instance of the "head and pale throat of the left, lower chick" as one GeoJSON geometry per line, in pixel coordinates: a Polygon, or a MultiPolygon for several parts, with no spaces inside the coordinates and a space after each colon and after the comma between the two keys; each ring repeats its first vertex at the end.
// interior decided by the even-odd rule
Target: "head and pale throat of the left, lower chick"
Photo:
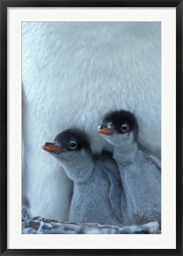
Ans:
{"type": "Polygon", "coordinates": [[[87,177],[88,171],[81,165],[93,161],[92,151],[89,139],[80,130],[67,129],[59,133],[54,142],[45,142],[42,148],[57,158],[71,180],[81,181],[87,177]]]}

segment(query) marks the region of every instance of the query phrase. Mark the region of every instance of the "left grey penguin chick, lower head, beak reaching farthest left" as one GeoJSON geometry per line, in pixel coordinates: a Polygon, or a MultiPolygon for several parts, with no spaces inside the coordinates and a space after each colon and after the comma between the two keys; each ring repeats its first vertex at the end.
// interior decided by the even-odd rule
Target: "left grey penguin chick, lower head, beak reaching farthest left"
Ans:
{"type": "Polygon", "coordinates": [[[122,226],[122,187],[112,157],[102,153],[94,159],[87,136],[77,129],[65,130],[53,143],[46,142],[42,148],[58,159],[74,182],[70,222],[122,226]]]}

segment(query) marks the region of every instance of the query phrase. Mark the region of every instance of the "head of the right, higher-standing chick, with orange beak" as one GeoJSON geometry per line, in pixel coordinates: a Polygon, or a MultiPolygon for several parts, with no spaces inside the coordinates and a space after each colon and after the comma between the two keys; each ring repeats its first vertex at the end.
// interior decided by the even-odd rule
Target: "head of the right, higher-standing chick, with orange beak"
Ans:
{"type": "Polygon", "coordinates": [[[138,121],[130,111],[119,110],[107,114],[97,131],[114,146],[136,142],[138,121]]]}

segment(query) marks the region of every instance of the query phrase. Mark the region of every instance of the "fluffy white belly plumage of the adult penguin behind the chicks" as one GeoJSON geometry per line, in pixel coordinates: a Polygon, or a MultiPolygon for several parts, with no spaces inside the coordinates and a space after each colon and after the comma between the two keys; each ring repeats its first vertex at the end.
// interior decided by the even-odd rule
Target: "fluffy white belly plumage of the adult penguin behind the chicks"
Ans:
{"type": "Polygon", "coordinates": [[[139,142],[161,155],[161,23],[22,23],[24,193],[32,215],[68,219],[72,183],[41,149],[77,127],[93,151],[103,116],[130,110],[139,142]]]}

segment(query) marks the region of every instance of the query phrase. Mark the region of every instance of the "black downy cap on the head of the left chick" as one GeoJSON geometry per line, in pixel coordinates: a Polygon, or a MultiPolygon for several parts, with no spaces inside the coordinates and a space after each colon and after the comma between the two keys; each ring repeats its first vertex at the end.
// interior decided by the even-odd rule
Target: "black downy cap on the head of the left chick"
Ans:
{"type": "Polygon", "coordinates": [[[79,129],[67,129],[59,133],[54,141],[67,151],[79,151],[83,148],[91,151],[88,137],[79,129]]]}

